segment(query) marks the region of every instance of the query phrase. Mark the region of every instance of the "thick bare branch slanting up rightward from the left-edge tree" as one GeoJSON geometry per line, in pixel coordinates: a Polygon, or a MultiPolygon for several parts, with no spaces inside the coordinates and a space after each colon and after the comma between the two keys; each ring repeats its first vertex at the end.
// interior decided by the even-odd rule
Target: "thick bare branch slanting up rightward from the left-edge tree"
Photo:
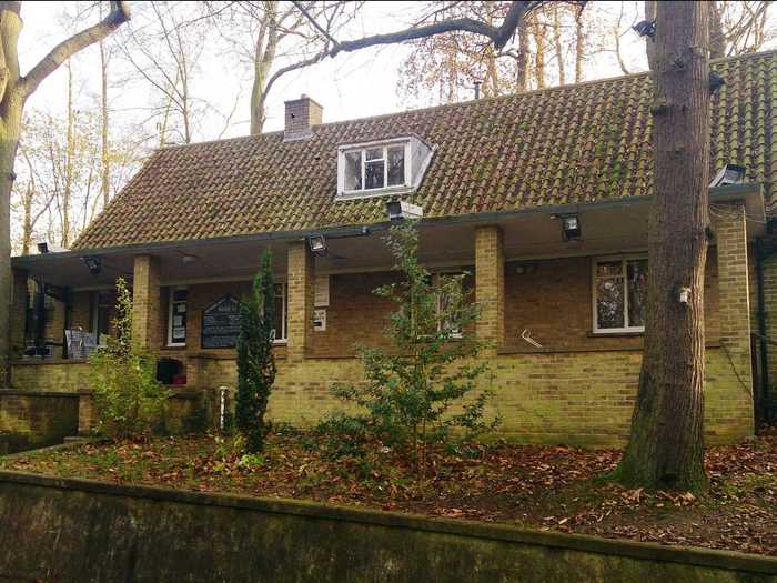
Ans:
{"type": "Polygon", "coordinates": [[[68,40],[60,42],[54,47],[49,54],[43,57],[30,72],[20,80],[21,89],[26,97],[30,96],[38,89],[38,86],[57,70],[64,61],[77,52],[93,44],[130,20],[130,8],[127,2],[112,1],[111,11],[108,16],[97,24],[89,27],[70,37],[68,40]]]}

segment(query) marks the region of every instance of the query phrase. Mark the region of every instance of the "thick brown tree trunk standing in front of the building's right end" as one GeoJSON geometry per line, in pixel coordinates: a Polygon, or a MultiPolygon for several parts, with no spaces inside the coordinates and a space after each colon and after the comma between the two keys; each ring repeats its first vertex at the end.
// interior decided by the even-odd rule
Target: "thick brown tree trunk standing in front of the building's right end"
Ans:
{"type": "Polygon", "coordinates": [[[647,322],[632,434],[619,468],[624,483],[646,487],[697,490],[706,482],[707,7],[658,2],[656,13],[647,322]],[[687,304],[679,300],[684,288],[689,289],[687,304]]]}

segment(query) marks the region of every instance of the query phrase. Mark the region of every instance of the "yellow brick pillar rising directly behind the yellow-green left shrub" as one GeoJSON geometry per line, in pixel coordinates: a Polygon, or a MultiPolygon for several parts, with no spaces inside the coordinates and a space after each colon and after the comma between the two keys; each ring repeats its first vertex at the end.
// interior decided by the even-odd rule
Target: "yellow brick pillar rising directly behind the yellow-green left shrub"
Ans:
{"type": "Polygon", "coordinates": [[[132,277],[132,338],[150,350],[161,345],[160,300],[159,258],[137,255],[132,277]]]}

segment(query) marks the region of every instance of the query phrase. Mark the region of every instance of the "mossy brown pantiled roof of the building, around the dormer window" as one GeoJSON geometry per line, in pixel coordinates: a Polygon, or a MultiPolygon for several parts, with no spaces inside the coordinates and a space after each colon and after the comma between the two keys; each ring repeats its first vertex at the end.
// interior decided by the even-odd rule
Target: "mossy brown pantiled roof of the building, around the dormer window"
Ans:
{"type": "MultiPolygon", "coordinates": [[[[740,163],[777,202],[777,52],[716,61],[712,165],[740,163]]],[[[649,193],[650,78],[516,96],[155,151],[75,248],[294,231],[383,220],[382,199],[335,201],[336,147],[417,134],[436,151],[413,194],[426,217],[649,193]]]]}

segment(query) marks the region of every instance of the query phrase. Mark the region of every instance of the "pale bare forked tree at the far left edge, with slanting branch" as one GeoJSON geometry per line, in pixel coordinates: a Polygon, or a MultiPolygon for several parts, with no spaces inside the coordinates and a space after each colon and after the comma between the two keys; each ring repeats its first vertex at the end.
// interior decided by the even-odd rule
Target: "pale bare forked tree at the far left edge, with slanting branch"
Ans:
{"type": "Polygon", "coordinates": [[[112,1],[104,19],[60,42],[22,74],[19,70],[20,12],[21,2],[0,2],[0,378],[4,383],[10,374],[11,191],[24,102],[70,57],[108,37],[130,18],[125,2],[112,1]]]}

